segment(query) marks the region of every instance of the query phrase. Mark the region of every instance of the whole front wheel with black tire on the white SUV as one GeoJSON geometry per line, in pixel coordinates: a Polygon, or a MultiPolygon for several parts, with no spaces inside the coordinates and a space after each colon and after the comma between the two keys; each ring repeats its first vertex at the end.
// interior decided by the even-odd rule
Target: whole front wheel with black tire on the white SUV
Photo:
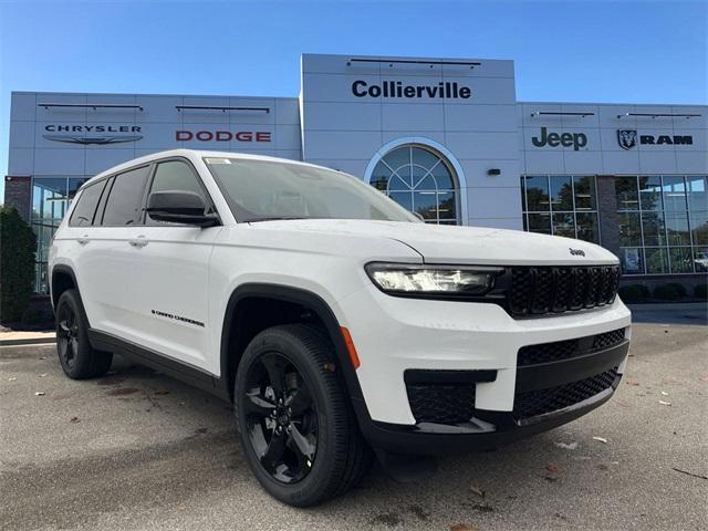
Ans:
{"type": "Polygon", "coordinates": [[[288,324],[258,334],[239,363],[233,402],[246,460],[266,491],[290,506],[344,493],[373,461],[332,371],[333,350],[319,329],[288,324]]]}

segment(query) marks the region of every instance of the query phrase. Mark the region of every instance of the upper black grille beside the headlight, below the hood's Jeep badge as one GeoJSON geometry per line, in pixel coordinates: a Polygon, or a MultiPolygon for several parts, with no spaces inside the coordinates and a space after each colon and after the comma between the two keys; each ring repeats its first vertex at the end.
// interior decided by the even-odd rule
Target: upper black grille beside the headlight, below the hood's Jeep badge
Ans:
{"type": "Polygon", "coordinates": [[[620,268],[513,267],[508,295],[513,316],[563,313],[611,304],[620,282],[620,268]]]}

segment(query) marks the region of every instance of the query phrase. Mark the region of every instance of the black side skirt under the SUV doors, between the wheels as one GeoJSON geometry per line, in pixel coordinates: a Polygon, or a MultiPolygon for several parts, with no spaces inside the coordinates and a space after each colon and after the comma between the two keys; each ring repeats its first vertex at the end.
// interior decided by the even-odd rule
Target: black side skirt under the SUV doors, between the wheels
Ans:
{"type": "Polygon", "coordinates": [[[88,329],[88,340],[91,341],[91,346],[98,351],[113,352],[132,362],[165,373],[192,387],[206,391],[223,400],[230,400],[228,393],[223,393],[225,386],[220,383],[220,378],[207,371],[177,362],[152,348],[146,348],[116,335],[100,332],[94,329],[88,329]]]}

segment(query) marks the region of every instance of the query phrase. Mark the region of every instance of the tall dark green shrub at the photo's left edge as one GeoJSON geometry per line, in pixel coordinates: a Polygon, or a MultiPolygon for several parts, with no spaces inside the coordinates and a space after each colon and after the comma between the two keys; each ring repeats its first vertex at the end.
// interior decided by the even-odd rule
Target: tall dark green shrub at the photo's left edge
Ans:
{"type": "Polygon", "coordinates": [[[0,321],[19,321],[30,303],[37,237],[17,209],[0,208],[0,321]]]}

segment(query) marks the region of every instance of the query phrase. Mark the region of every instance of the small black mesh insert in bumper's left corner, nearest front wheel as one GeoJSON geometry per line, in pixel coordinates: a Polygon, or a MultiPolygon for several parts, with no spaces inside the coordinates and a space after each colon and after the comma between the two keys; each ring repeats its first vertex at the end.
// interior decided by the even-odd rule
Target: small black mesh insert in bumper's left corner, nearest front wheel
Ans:
{"type": "Polygon", "coordinates": [[[417,423],[460,424],[475,415],[475,385],[406,385],[417,423]]]}

